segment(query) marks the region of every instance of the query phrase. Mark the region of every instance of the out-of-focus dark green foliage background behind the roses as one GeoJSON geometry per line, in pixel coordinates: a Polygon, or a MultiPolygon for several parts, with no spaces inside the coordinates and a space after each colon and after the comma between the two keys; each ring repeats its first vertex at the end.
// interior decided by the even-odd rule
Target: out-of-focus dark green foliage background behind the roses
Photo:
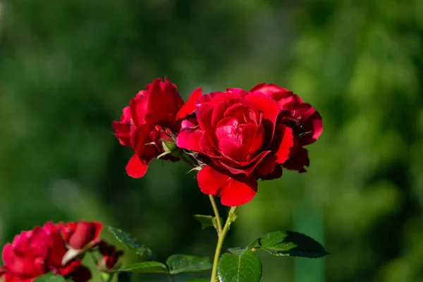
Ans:
{"type": "Polygon", "coordinates": [[[423,281],[422,41],[421,0],[0,0],[0,243],[95,219],[159,259],[212,257],[195,174],[154,161],[128,177],[111,122],[165,75],[185,99],[274,82],[320,111],[324,133],[307,173],[259,184],[225,247],[295,230],[332,255],[262,255],[262,281],[423,281]]]}

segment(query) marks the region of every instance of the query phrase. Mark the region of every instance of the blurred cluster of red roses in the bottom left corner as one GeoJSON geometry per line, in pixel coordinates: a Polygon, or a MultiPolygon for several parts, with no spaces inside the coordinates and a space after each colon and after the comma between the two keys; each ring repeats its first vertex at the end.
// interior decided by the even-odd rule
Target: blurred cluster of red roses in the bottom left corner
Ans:
{"type": "Polygon", "coordinates": [[[4,246],[0,281],[30,282],[53,272],[75,282],[85,282],[91,278],[91,273],[82,265],[82,257],[85,252],[94,250],[101,255],[99,269],[111,270],[123,252],[99,239],[102,228],[102,223],[95,221],[47,222],[42,227],[23,231],[16,235],[13,243],[4,246]]]}

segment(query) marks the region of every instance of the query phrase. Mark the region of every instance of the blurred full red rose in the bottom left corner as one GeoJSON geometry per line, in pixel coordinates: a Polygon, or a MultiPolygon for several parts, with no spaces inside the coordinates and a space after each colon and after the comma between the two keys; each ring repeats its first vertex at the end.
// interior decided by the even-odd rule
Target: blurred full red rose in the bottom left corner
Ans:
{"type": "Polygon", "coordinates": [[[73,277],[76,282],[87,281],[90,275],[87,276],[88,269],[81,266],[81,259],[62,265],[63,255],[67,251],[59,227],[51,222],[42,227],[37,226],[32,231],[23,231],[16,235],[13,243],[4,246],[1,278],[5,282],[29,282],[53,271],[55,274],[73,277]]]}

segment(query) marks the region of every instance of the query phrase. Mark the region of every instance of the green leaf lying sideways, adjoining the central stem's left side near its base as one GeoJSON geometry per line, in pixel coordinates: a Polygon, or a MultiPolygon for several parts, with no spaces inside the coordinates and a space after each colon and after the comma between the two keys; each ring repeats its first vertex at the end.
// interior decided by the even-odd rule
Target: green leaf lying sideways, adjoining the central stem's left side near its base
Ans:
{"type": "Polygon", "coordinates": [[[208,257],[196,257],[192,255],[171,255],[166,259],[171,274],[180,272],[203,271],[212,268],[208,257]]]}

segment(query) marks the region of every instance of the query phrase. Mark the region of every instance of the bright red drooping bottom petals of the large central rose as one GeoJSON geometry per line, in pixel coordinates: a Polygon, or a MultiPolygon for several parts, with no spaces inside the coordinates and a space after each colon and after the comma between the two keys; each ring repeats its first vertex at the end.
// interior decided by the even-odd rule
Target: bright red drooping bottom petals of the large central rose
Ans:
{"type": "Polygon", "coordinates": [[[257,179],[254,176],[228,176],[212,166],[202,168],[197,179],[204,194],[221,197],[221,204],[229,207],[250,202],[257,192],[257,179]]]}

